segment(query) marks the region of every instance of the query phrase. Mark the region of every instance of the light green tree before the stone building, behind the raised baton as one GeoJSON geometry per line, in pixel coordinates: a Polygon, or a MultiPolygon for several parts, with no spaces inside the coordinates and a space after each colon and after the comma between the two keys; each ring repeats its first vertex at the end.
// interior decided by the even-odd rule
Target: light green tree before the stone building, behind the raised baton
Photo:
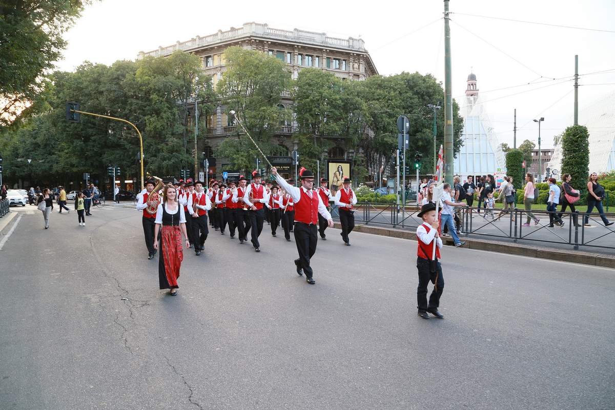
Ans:
{"type": "MultiPolygon", "coordinates": [[[[276,152],[279,148],[271,142],[271,136],[279,127],[280,119],[288,117],[287,110],[279,107],[282,92],[290,89],[291,84],[286,64],[265,53],[241,47],[229,47],[224,51],[224,58],[226,71],[218,82],[223,104],[229,111],[236,111],[265,155],[276,152]]],[[[224,140],[216,149],[216,156],[228,158],[231,166],[240,170],[252,169],[254,157],[261,157],[239,128],[237,138],[224,140]]]]}

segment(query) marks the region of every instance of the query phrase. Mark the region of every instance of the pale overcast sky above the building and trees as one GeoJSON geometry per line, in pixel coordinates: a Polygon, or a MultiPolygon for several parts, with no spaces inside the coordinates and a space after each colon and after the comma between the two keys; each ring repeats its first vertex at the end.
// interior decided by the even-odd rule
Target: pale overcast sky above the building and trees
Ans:
{"type": "MultiPolygon", "coordinates": [[[[84,60],[107,65],[134,60],[139,51],[258,22],[285,30],[325,32],[333,37],[360,36],[380,74],[418,71],[444,81],[442,1],[383,0],[366,4],[312,0],[298,4],[244,0],[95,2],[66,33],[68,48],[58,68],[72,71],[84,60]]],[[[451,0],[450,8],[454,13],[453,97],[463,103],[472,69],[500,142],[512,146],[514,108],[519,127],[517,143],[525,139],[538,143],[534,118],[545,117],[542,146],[546,148],[552,146],[554,135],[572,124],[573,81],[562,77],[574,74],[575,54],[579,55],[580,74],[611,70],[580,78],[581,124],[589,115],[584,106],[615,90],[615,33],[462,15],[615,31],[613,0],[451,0]],[[527,83],[533,84],[523,85],[527,83]],[[518,85],[522,86],[514,87],[518,85]],[[514,88],[498,91],[506,87],[514,88]]],[[[615,124],[613,127],[615,132],[615,124]]]]}

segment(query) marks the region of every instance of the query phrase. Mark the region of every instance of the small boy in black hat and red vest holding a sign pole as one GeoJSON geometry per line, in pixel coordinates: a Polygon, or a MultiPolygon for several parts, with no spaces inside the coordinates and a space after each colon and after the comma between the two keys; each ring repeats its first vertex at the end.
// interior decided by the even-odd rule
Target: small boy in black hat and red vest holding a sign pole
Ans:
{"type": "Polygon", "coordinates": [[[418,301],[418,315],[421,318],[429,319],[427,312],[431,313],[438,319],[444,318],[442,313],[438,312],[440,306],[440,296],[444,290],[444,277],[442,276],[442,266],[440,266],[440,249],[442,249],[442,239],[438,234],[438,218],[435,213],[435,203],[429,202],[421,207],[419,218],[423,218],[423,224],[416,228],[416,239],[418,247],[416,248],[416,269],[419,274],[419,286],[416,290],[416,299],[418,301]],[[432,259],[435,249],[435,260],[432,259]],[[434,290],[429,296],[429,304],[427,304],[427,284],[434,283],[434,290]]]}

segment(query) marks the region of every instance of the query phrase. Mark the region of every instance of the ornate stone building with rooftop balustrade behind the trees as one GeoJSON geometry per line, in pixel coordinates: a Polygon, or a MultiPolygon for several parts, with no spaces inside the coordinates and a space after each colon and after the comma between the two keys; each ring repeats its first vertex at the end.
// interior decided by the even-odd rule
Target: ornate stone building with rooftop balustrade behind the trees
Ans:
{"type": "MultiPolygon", "coordinates": [[[[378,74],[376,66],[362,39],[348,37],[347,39],[329,37],[326,33],[315,33],[295,29],[293,31],[271,28],[267,24],[245,23],[240,28],[228,31],[218,30],[217,33],[205,37],[194,37],[185,42],[177,42],[168,47],[159,47],[150,52],[140,52],[138,58],[145,56],[167,56],[175,50],[183,50],[198,55],[202,60],[203,73],[212,77],[212,84],[216,84],[226,70],[224,50],[231,46],[258,50],[279,58],[290,67],[293,79],[296,79],[303,68],[319,68],[330,71],[343,80],[361,81],[368,76],[378,74]]],[[[290,108],[292,99],[290,92],[282,93],[280,108],[290,108]]],[[[236,132],[226,109],[218,104],[216,112],[205,119],[207,132],[203,138],[199,135],[199,149],[205,152],[206,157],[213,157],[213,149],[225,138],[236,132]]],[[[296,124],[282,124],[277,127],[274,139],[277,144],[287,148],[288,152],[297,148],[297,141],[293,137],[296,124]]],[[[354,151],[347,146],[344,138],[339,136],[324,136],[330,138],[335,146],[323,153],[323,159],[349,159],[354,151]]],[[[282,150],[284,151],[284,150],[282,150]]],[[[357,155],[359,153],[357,152],[357,155]]],[[[210,164],[213,161],[210,161],[210,164]]],[[[221,169],[228,163],[224,158],[216,158],[215,166],[210,166],[210,176],[220,176],[221,169]]],[[[256,164],[255,164],[256,165],[256,164]]]]}

